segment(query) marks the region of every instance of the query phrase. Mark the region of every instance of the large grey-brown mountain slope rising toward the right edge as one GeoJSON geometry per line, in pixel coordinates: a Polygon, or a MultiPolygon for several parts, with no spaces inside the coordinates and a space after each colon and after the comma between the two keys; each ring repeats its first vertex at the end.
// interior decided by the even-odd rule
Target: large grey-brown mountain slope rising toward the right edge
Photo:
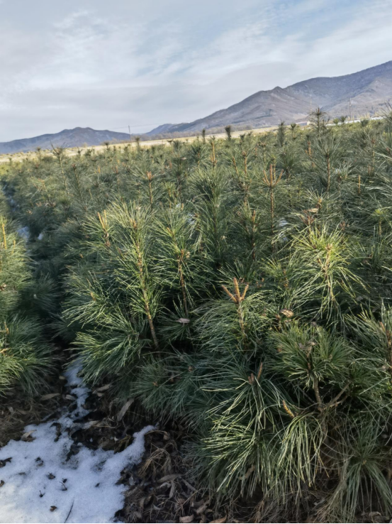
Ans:
{"type": "MultiPolygon", "coordinates": [[[[274,126],[281,121],[308,119],[310,108],[322,107],[333,118],[376,114],[392,97],[392,61],[341,77],[318,77],[289,87],[259,91],[227,109],[185,124],[164,124],[164,133],[191,133],[201,129],[233,126],[274,126]]],[[[157,128],[159,129],[159,128],[157,128]]],[[[153,133],[152,130],[150,134],[153,133]]],[[[159,131],[162,133],[162,131],[159,131]]]]}

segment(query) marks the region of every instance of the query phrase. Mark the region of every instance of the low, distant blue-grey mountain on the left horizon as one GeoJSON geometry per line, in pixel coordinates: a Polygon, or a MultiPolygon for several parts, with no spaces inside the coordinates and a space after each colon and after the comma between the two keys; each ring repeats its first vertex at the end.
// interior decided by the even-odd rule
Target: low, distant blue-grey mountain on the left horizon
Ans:
{"type": "Polygon", "coordinates": [[[99,146],[103,142],[129,142],[128,133],[116,133],[116,131],[96,131],[91,127],[75,127],[64,129],[60,133],[23,138],[11,142],[0,142],[0,153],[18,153],[19,151],[32,151],[35,148],[50,149],[52,146],[74,148],[84,146],[99,146]]]}

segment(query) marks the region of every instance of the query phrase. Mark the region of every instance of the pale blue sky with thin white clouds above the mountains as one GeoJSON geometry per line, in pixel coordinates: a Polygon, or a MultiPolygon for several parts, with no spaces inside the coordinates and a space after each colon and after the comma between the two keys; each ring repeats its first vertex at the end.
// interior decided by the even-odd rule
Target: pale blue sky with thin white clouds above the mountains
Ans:
{"type": "Polygon", "coordinates": [[[142,133],[392,60],[391,0],[0,0],[0,141],[142,133]]]}

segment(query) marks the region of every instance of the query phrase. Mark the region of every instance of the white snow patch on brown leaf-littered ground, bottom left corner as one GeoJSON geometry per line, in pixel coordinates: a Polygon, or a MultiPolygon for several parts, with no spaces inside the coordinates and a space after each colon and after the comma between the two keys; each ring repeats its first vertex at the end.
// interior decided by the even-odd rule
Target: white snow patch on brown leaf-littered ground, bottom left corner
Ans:
{"type": "Polygon", "coordinates": [[[72,454],[67,428],[80,427],[77,419],[88,413],[83,404],[89,390],[77,373],[76,366],[65,373],[77,399],[72,413],[26,426],[32,442],[11,440],[0,449],[0,523],[111,523],[123,508],[124,486],[116,482],[125,466],[140,461],[144,435],[153,427],[135,433],[123,452],[79,443],[79,452],[72,454]]]}

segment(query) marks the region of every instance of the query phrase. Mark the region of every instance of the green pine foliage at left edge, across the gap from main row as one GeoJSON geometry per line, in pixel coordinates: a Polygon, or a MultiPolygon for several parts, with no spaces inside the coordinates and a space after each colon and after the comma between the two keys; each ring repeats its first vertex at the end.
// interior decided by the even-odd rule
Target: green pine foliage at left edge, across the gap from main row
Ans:
{"type": "Polygon", "coordinates": [[[38,309],[45,291],[35,287],[15,224],[0,214],[0,394],[13,386],[28,394],[42,393],[52,367],[50,346],[29,300],[37,302],[38,309]]]}

